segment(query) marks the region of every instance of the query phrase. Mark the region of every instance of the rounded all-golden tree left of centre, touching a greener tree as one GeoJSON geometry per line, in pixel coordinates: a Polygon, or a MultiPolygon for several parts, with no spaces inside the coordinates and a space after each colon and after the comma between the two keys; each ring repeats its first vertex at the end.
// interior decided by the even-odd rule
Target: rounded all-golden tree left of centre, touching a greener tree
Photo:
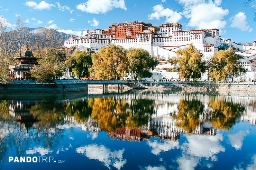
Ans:
{"type": "Polygon", "coordinates": [[[90,73],[97,79],[119,80],[128,72],[127,51],[121,46],[111,44],[92,54],[90,73]]]}

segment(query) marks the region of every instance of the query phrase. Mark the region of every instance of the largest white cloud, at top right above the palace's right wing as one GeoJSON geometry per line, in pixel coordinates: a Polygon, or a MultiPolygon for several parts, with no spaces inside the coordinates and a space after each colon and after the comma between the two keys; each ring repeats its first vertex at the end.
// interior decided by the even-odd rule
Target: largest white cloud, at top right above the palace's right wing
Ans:
{"type": "Polygon", "coordinates": [[[178,0],[183,6],[183,16],[189,19],[187,26],[196,29],[226,27],[227,22],[223,20],[228,15],[229,10],[223,9],[220,6],[221,0],[205,1],[205,0],[178,0]],[[209,12],[210,11],[210,12],[209,12]]]}

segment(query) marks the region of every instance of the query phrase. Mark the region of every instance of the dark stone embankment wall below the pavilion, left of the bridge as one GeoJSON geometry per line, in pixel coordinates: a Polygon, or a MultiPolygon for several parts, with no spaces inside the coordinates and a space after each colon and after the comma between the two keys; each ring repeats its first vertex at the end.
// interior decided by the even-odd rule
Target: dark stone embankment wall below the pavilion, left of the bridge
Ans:
{"type": "Polygon", "coordinates": [[[28,84],[8,83],[0,84],[0,92],[75,92],[88,91],[88,84],[28,84]]]}

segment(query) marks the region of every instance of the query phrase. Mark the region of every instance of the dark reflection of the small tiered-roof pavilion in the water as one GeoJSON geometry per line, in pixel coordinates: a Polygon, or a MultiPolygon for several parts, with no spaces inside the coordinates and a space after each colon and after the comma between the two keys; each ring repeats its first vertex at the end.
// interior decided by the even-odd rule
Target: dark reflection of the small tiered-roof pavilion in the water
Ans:
{"type": "Polygon", "coordinates": [[[37,122],[37,118],[30,113],[30,105],[26,102],[12,101],[9,103],[9,113],[15,117],[17,122],[21,123],[26,130],[32,127],[33,123],[37,122]]]}

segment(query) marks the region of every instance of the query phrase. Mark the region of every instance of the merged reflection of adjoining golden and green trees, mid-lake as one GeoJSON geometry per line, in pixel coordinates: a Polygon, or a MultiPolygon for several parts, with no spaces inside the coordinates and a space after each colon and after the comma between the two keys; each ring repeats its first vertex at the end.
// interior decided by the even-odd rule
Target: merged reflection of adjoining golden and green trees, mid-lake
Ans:
{"type": "Polygon", "coordinates": [[[128,103],[124,99],[94,98],[89,100],[92,119],[98,120],[99,126],[107,131],[118,128],[139,128],[148,123],[153,113],[153,100],[133,99],[128,103]]]}

